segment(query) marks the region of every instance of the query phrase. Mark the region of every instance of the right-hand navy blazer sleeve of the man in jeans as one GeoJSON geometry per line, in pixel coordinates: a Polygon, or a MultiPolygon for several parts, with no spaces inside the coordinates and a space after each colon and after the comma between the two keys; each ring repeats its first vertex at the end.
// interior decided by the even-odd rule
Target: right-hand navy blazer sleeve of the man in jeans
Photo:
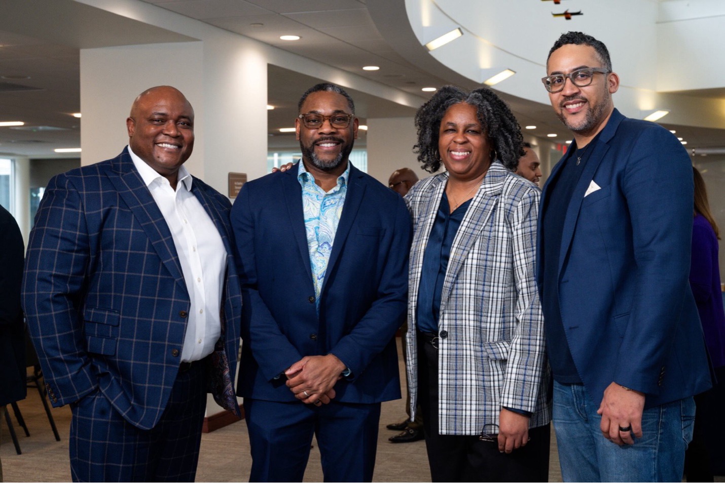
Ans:
{"type": "Polygon", "coordinates": [[[614,381],[658,394],[684,298],[689,294],[692,166],[682,144],[659,127],[645,129],[623,173],[636,266],[632,307],[614,381]]]}

